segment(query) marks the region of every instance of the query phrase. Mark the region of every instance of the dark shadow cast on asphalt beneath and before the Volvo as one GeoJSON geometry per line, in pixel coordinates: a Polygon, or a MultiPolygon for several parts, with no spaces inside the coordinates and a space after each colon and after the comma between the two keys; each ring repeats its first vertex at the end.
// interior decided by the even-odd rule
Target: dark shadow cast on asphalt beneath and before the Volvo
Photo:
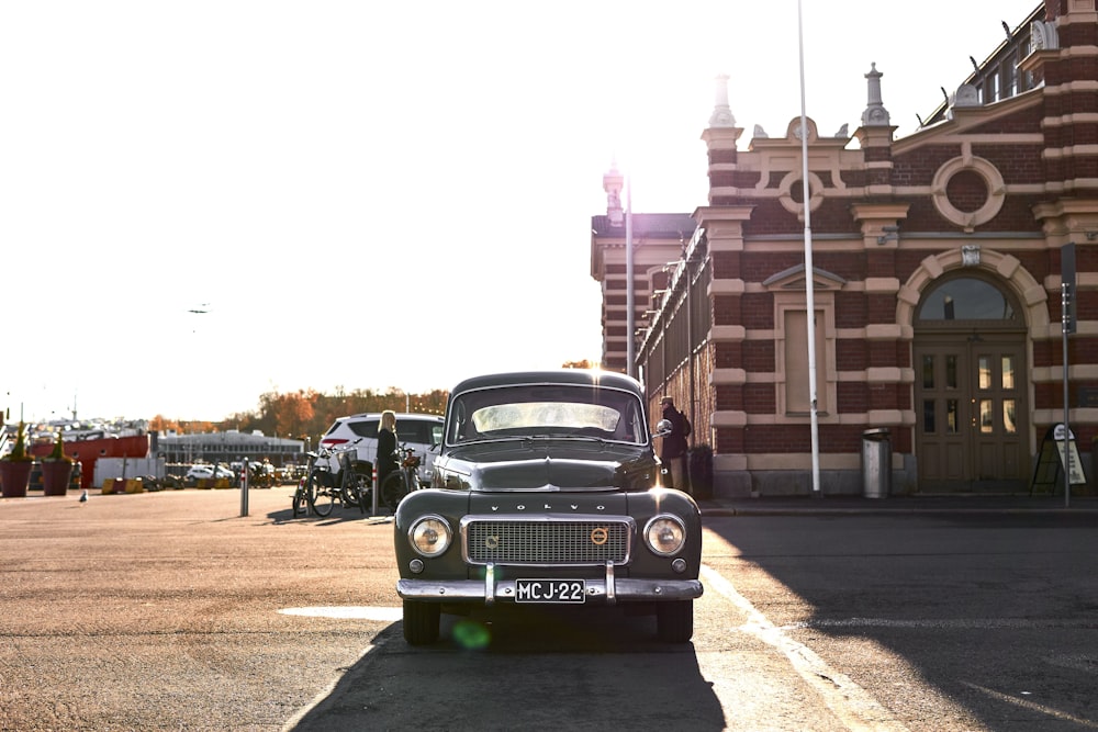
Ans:
{"type": "Polygon", "coordinates": [[[691,643],[656,639],[616,608],[501,608],[442,616],[411,646],[401,623],[285,729],[721,730],[691,643]]]}

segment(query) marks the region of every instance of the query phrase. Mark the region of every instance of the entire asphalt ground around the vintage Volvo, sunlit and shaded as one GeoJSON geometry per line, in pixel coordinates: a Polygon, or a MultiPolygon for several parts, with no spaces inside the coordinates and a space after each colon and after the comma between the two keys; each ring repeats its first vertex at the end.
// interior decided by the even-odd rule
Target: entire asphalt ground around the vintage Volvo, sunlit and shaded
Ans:
{"type": "Polygon", "coordinates": [[[413,649],[392,525],[290,494],[0,500],[0,730],[1098,729],[1093,511],[714,510],[693,643],[527,608],[413,649]]]}

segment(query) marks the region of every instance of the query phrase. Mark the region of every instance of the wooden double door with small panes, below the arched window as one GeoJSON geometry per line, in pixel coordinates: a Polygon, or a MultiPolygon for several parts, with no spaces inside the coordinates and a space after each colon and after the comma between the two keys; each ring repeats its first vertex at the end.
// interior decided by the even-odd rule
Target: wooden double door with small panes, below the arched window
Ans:
{"type": "Polygon", "coordinates": [[[1024,491],[1031,471],[1024,335],[923,335],[914,352],[919,491],[1024,491]]]}

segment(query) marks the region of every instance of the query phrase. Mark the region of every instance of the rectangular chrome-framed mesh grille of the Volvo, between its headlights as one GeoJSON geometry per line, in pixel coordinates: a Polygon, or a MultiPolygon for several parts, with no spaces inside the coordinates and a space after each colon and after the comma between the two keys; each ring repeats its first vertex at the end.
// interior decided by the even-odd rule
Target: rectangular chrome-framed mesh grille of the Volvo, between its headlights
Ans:
{"type": "Polygon", "coordinates": [[[623,520],[472,519],[462,526],[473,564],[624,564],[632,523],[623,520]]]}

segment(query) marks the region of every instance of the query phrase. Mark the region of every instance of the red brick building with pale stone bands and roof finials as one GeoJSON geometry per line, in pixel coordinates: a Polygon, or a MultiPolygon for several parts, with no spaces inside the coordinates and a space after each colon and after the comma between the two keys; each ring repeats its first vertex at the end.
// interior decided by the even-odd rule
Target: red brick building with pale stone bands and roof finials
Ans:
{"type": "MultiPolygon", "coordinates": [[[[894,137],[873,67],[852,134],[821,135],[807,120],[810,236],[799,114],[781,135],[757,126],[741,149],[718,79],[702,134],[707,204],[631,217],[636,368],[653,407],[664,393],[685,405],[695,447],[713,451],[718,494],[858,493],[870,429],[888,430],[894,492],[1029,492],[1064,417],[1066,254],[1077,269],[1068,418],[1089,469],[1095,0],[1046,0],[1008,36],[907,137],[894,137]]],[[[624,370],[615,176],[604,180],[607,215],[592,219],[592,275],[603,284],[604,363],[624,370]]]]}

